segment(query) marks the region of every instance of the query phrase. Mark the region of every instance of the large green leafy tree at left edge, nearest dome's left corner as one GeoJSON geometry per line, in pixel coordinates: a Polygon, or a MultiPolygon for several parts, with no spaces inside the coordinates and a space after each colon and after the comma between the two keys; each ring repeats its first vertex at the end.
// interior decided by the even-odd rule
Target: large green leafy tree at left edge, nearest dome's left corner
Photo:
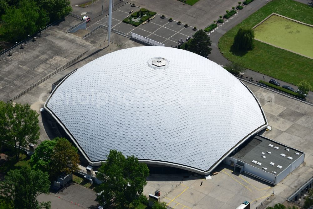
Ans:
{"type": "Polygon", "coordinates": [[[37,144],[39,139],[38,113],[28,104],[0,101],[0,138],[19,159],[21,148],[37,144]]]}

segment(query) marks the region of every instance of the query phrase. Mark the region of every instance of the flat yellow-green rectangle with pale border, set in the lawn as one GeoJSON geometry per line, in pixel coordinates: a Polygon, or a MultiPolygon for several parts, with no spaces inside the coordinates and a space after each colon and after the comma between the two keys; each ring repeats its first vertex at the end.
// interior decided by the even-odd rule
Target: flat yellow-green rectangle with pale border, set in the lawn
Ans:
{"type": "Polygon", "coordinates": [[[254,28],[255,39],[313,59],[313,27],[273,14],[254,28]]]}

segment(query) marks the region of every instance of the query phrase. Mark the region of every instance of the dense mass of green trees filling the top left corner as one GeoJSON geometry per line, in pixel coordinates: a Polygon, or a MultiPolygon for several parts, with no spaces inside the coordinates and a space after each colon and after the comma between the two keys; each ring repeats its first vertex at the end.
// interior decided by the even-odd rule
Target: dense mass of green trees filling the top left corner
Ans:
{"type": "Polygon", "coordinates": [[[0,37],[21,41],[71,11],[69,0],[0,0],[0,37]]]}

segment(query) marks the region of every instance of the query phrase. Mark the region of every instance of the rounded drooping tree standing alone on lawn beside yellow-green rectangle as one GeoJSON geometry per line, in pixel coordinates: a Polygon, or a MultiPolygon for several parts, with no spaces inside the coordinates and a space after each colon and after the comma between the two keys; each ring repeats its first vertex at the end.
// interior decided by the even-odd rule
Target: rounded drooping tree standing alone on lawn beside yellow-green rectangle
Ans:
{"type": "Polygon", "coordinates": [[[254,30],[252,28],[239,28],[235,35],[233,48],[239,51],[247,51],[253,49],[254,30]]]}

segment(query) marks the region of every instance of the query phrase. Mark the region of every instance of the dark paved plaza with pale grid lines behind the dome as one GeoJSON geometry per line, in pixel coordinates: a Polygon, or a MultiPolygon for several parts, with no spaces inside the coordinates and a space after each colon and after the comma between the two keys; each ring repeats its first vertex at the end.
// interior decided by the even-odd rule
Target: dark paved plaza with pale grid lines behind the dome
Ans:
{"type": "MultiPolygon", "coordinates": [[[[165,46],[175,46],[178,45],[178,40],[186,40],[187,37],[192,37],[196,32],[193,30],[193,26],[185,28],[184,23],[178,25],[176,20],[172,22],[168,21],[169,18],[161,18],[160,14],[156,14],[154,19],[138,27],[132,26],[130,24],[123,23],[123,19],[130,15],[130,11],[134,10],[136,12],[139,7],[131,7],[131,4],[126,3],[112,13],[112,28],[116,29],[122,33],[131,35],[135,33],[149,39],[155,40],[159,43],[165,44],[165,46]]],[[[88,25],[87,30],[93,30],[99,25],[108,25],[109,17],[103,17],[97,22],[88,25]]]]}

